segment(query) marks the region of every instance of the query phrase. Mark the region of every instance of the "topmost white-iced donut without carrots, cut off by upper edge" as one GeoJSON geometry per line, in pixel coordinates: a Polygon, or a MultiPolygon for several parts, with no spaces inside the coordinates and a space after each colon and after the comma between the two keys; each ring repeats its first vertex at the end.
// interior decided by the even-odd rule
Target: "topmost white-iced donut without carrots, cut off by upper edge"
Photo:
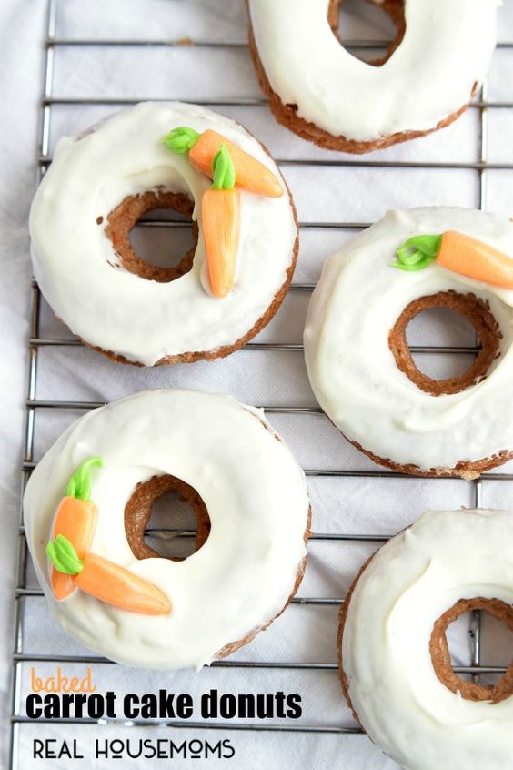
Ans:
{"type": "Polygon", "coordinates": [[[258,80],[282,125],[320,147],[364,153],[448,126],[488,71],[496,3],[372,0],[397,26],[367,63],[337,37],[341,0],[246,0],[258,80]]]}

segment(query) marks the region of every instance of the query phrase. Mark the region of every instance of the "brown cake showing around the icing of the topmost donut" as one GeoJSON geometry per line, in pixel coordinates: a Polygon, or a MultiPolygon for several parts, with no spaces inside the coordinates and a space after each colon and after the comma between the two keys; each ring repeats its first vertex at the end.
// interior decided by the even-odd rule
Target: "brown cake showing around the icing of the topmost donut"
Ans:
{"type": "MultiPolygon", "coordinates": [[[[328,22],[333,28],[334,32],[337,32],[338,25],[338,9],[343,0],[330,0],[328,9],[328,22]]],[[[370,0],[370,2],[378,3],[378,0],[370,0]]],[[[293,131],[297,136],[307,139],[307,141],[314,142],[319,147],[325,147],[326,149],[337,150],[339,152],[348,152],[353,154],[362,154],[371,152],[376,149],[385,149],[391,145],[398,144],[399,142],[407,142],[409,139],[417,139],[418,137],[426,137],[428,134],[432,134],[434,131],[438,131],[440,128],[449,126],[455,121],[468,107],[468,104],[461,106],[456,112],[452,113],[439,123],[428,129],[427,131],[399,131],[395,134],[390,134],[387,137],[379,137],[372,141],[360,142],[355,139],[348,139],[347,137],[339,136],[335,137],[328,131],[324,130],[305,120],[303,117],[297,115],[297,105],[284,104],[273,90],[267,78],[266,70],[262,65],[260,56],[258,55],[257,44],[255,42],[255,36],[253,34],[253,27],[251,24],[251,14],[249,12],[248,0],[246,0],[247,14],[248,14],[248,38],[249,38],[249,50],[253,57],[253,62],[257,72],[258,82],[260,87],[266,94],[269,100],[269,106],[271,107],[277,122],[282,126],[285,126],[290,131],[293,131]]],[[[377,59],[371,64],[379,66],[384,64],[387,59],[392,56],[397,46],[400,44],[405,33],[405,17],[404,17],[404,3],[403,0],[383,0],[379,2],[380,5],[387,14],[392,18],[397,26],[397,35],[395,40],[388,46],[387,54],[381,59],[377,59]]],[[[478,84],[474,84],[471,94],[469,95],[469,101],[476,94],[478,90],[478,84]]]]}

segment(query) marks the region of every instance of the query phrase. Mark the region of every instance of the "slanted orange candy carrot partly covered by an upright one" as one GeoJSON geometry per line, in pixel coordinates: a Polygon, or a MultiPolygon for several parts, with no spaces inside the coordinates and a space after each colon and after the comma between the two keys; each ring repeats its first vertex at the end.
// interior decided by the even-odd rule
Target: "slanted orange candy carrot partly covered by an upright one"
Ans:
{"type": "Polygon", "coordinates": [[[163,139],[166,147],[178,154],[188,152],[191,164],[212,177],[212,163],[222,145],[226,145],[236,169],[236,186],[267,198],[279,198],[283,187],[272,171],[255,157],[248,155],[226,137],[208,128],[199,134],[194,128],[173,128],[163,139]]]}

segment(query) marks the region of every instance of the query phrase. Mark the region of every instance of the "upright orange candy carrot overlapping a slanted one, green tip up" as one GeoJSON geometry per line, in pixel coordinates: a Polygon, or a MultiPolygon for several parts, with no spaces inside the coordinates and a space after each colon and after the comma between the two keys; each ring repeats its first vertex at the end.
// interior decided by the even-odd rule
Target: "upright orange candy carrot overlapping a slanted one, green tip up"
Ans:
{"type": "Polygon", "coordinates": [[[201,201],[206,266],[212,293],[226,297],[234,283],[240,229],[236,172],[226,145],[214,158],[212,170],[213,185],[201,201]]]}

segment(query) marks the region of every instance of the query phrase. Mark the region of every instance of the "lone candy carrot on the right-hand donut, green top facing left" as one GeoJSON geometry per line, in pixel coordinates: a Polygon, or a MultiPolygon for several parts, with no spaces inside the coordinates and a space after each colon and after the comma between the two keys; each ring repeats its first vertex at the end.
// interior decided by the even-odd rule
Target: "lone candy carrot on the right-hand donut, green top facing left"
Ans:
{"type": "Polygon", "coordinates": [[[502,289],[513,289],[513,258],[488,243],[454,230],[408,238],[396,254],[397,261],[391,264],[400,270],[422,270],[436,261],[453,273],[502,289]]]}

